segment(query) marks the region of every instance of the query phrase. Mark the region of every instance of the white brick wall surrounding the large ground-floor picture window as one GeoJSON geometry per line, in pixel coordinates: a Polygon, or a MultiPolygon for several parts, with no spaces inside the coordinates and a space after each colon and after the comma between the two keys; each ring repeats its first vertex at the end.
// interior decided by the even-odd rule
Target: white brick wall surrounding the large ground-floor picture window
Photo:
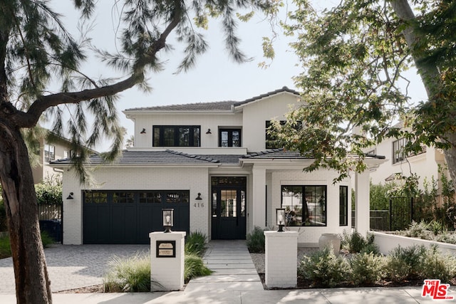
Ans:
{"type": "Polygon", "coordinates": [[[290,231],[298,231],[298,242],[301,246],[318,246],[321,234],[343,234],[351,227],[351,183],[349,179],[333,184],[338,177],[336,172],[321,169],[318,172],[305,173],[302,169],[274,171],[271,174],[271,197],[268,201],[267,221],[276,223],[276,208],[281,208],[282,185],[327,185],[326,226],[288,227],[290,231]],[[348,226],[339,226],[339,186],[348,186],[348,226]]]}

